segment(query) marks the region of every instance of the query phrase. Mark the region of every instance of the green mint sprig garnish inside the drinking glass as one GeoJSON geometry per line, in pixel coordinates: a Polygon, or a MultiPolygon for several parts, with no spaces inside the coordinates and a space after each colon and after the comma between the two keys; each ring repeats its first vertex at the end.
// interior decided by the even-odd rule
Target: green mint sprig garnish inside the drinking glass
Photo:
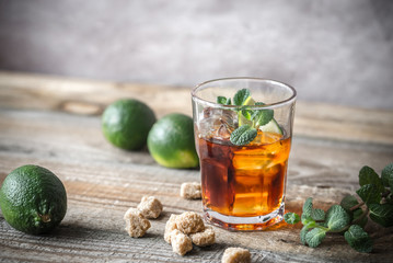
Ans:
{"type": "MultiPolygon", "coordinates": [[[[246,101],[251,99],[248,89],[239,90],[233,96],[233,104],[239,106],[234,111],[238,112],[239,122],[246,119],[246,124],[242,124],[231,134],[230,140],[235,146],[244,146],[253,141],[257,135],[259,126],[266,125],[274,117],[273,110],[252,110],[246,101]]],[[[222,105],[231,105],[231,99],[218,96],[217,103],[222,105]]],[[[263,102],[256,102],[255,105],[265,105],[263,102]]]]}

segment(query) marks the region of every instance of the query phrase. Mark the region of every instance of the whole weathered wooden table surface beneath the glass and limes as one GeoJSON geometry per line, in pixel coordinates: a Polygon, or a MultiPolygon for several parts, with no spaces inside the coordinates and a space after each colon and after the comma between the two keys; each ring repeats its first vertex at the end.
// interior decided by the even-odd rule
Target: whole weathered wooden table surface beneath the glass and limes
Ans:
{"type": "MultiPolygon", "coordinates": [[[[393,229],[369,224],[370,254],[349,248],[339,235],[316,249],[300,243],[300,225],[279,224],[267,231],[216,229],[217,243],[185,256],[163,239],[171,214],[201,213],[200,201],[180,198],[180,185],[199,181],[198,170],[158,165],[147,150],[112,147],[101,132],[101,113],[119,98],[136,98],[158,117],[190,115],[190,88],[111,83],[49,76],[0,72],[0,183],[13,169],[34,163],[55,172],[68,194],[68,211],[50,235],[12,229],[0,214],[3,262],[220,262],[228,247],[250,249],[253,262],[392,262],[393,229]],[[146,237],[130,238],[124,213],[143,195],[164,205],[146,237]]],[[[327,208],[358,185],[369,165],[380,172],[393,161],[393,111],[354,108],[299,101],[289,161],[287,210],[304,199],[327,208]]]]}

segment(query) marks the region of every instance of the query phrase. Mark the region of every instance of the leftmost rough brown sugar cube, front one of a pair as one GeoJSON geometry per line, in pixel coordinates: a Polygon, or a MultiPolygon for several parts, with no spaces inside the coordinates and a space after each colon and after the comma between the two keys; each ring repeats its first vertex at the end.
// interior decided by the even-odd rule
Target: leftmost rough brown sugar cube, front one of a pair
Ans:
{"type": "Polygon", "coordinates": [[[126,230],[132,238],[143,237],[150,228],[150,221],[137,208],[129,208],[124,215],[126,230]]]}

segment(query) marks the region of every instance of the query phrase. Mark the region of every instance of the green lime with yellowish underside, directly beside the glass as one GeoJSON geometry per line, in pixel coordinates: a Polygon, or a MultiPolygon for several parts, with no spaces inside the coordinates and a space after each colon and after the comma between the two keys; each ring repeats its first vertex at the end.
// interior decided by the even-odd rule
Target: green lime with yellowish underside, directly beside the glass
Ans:
{"type": "Polygon", "coordinates": [[[167,168],[195,168],[199,164],[195,150],[193,118],[178,113],[158,121],[148,136],[153,159],[167,168]]]}

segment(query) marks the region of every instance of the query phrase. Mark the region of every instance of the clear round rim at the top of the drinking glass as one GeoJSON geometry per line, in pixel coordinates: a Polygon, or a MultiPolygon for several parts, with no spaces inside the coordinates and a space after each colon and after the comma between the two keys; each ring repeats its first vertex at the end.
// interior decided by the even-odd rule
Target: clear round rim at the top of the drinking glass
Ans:
{"type": "Polygon", "coordinates": [[[232,78],[220,78],[220,79],[212,79],[212,80],[208,80],[208,81],[204,81],[199,84],[197,84],[196,87],[194,87],[194,89],[192,90],[192,99],[193,101],[196,102],[200,102],[204,103],[206,105],[209,106],[213,106],[213,107],[229,107],[229,108],[236,108],[239,107],[239,105],[223,105],[223,104],[219,104],[216,102],[211,102],[211,101],[207,101],[205,99],[201,99],[200,96],[198,96],[196,93],[197,91],[208,84],[208,83],[212,83],[212,82],[218,82],[218,81],[227,81],[227,80],[255,80],[255,81],[264,81],[264,82],[270,82],[270,83],[275,83],[275,84],[280,84],[286,87],[287,89],[289,89],[292,92],[292,95],[286,100],[282,101],[277,101],[275,103],[269,103],[269,104],[264,104],[264,105],[246,105],[247,108],[274,108],[274,107],[279,107],[279,106],[284,106],[286,104],[290,104],[293,103],[297,99],[297,91],[293,87],[291,87],[290,84],[284,83],[281,81],[277,81],[277,80],[273,80],[273,79],[266,79],[266,78],[254,78],[254,77],[232,77],[232,78]]]}

